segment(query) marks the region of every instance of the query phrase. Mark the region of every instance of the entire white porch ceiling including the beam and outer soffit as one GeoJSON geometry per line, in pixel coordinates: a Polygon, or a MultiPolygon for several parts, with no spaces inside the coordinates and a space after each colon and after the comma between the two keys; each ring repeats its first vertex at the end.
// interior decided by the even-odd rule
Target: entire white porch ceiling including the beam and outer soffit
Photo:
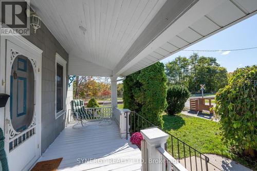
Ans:
{"type": "Polygon", "coordinates": [[[69,53],[69,74],[95,76],[131,74],[244,20],[257,9],[256,0],[30,3],[69,53]]]}

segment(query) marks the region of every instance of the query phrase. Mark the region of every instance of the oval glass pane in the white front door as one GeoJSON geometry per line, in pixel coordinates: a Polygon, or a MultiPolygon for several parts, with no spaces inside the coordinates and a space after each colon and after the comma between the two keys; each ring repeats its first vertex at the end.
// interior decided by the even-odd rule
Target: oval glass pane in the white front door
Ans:
{"type": "Polygon", "coordinates": [[[22,132],[32,122],[34,112],[34,71],[28,58],[18,55],[10,75],[10,118],[13,129],[22,132]]]}

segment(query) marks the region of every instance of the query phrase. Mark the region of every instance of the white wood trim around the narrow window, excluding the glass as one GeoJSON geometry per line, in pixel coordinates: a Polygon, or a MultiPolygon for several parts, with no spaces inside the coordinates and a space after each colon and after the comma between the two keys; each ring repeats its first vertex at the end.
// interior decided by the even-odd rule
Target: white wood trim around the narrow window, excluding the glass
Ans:
{"type": "Polygon", "coordinates": [[[66,112],[66,64],[67,62],[62,58],[62,56],[58,53],[56,53],[56,82],[57,82],[57,63],[62,65],[63,67],[63,110],[56,112],[56,104],[57,104],[57,94],[56,94],[56,90],[57,90],[57,84],[56,84],[56,89],[55,89],[55,107],[54,107],[54,112],[55,112],[55,116],[56,119],[58,119],[59,117],[61,117],[65,112],[66,112]]]}

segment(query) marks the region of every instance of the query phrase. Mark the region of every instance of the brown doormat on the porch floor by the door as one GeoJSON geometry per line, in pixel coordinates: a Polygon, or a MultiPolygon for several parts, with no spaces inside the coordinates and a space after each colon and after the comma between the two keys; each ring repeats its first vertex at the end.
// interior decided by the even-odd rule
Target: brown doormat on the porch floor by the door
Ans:
{"type": "Polygon", "coordinates": [[[38,162],[31,171],[56,171],[62,159],[63,158],[38,162]]]}

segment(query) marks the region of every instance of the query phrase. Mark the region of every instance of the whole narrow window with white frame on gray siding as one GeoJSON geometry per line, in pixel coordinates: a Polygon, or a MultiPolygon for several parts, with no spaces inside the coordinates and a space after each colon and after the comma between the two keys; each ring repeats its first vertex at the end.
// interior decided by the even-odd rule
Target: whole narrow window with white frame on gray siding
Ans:
{"type": "Polygon", "coordinates": [[[56,119],[66,110],[66,64],[67,62],[56,53],[56,119]]]}

